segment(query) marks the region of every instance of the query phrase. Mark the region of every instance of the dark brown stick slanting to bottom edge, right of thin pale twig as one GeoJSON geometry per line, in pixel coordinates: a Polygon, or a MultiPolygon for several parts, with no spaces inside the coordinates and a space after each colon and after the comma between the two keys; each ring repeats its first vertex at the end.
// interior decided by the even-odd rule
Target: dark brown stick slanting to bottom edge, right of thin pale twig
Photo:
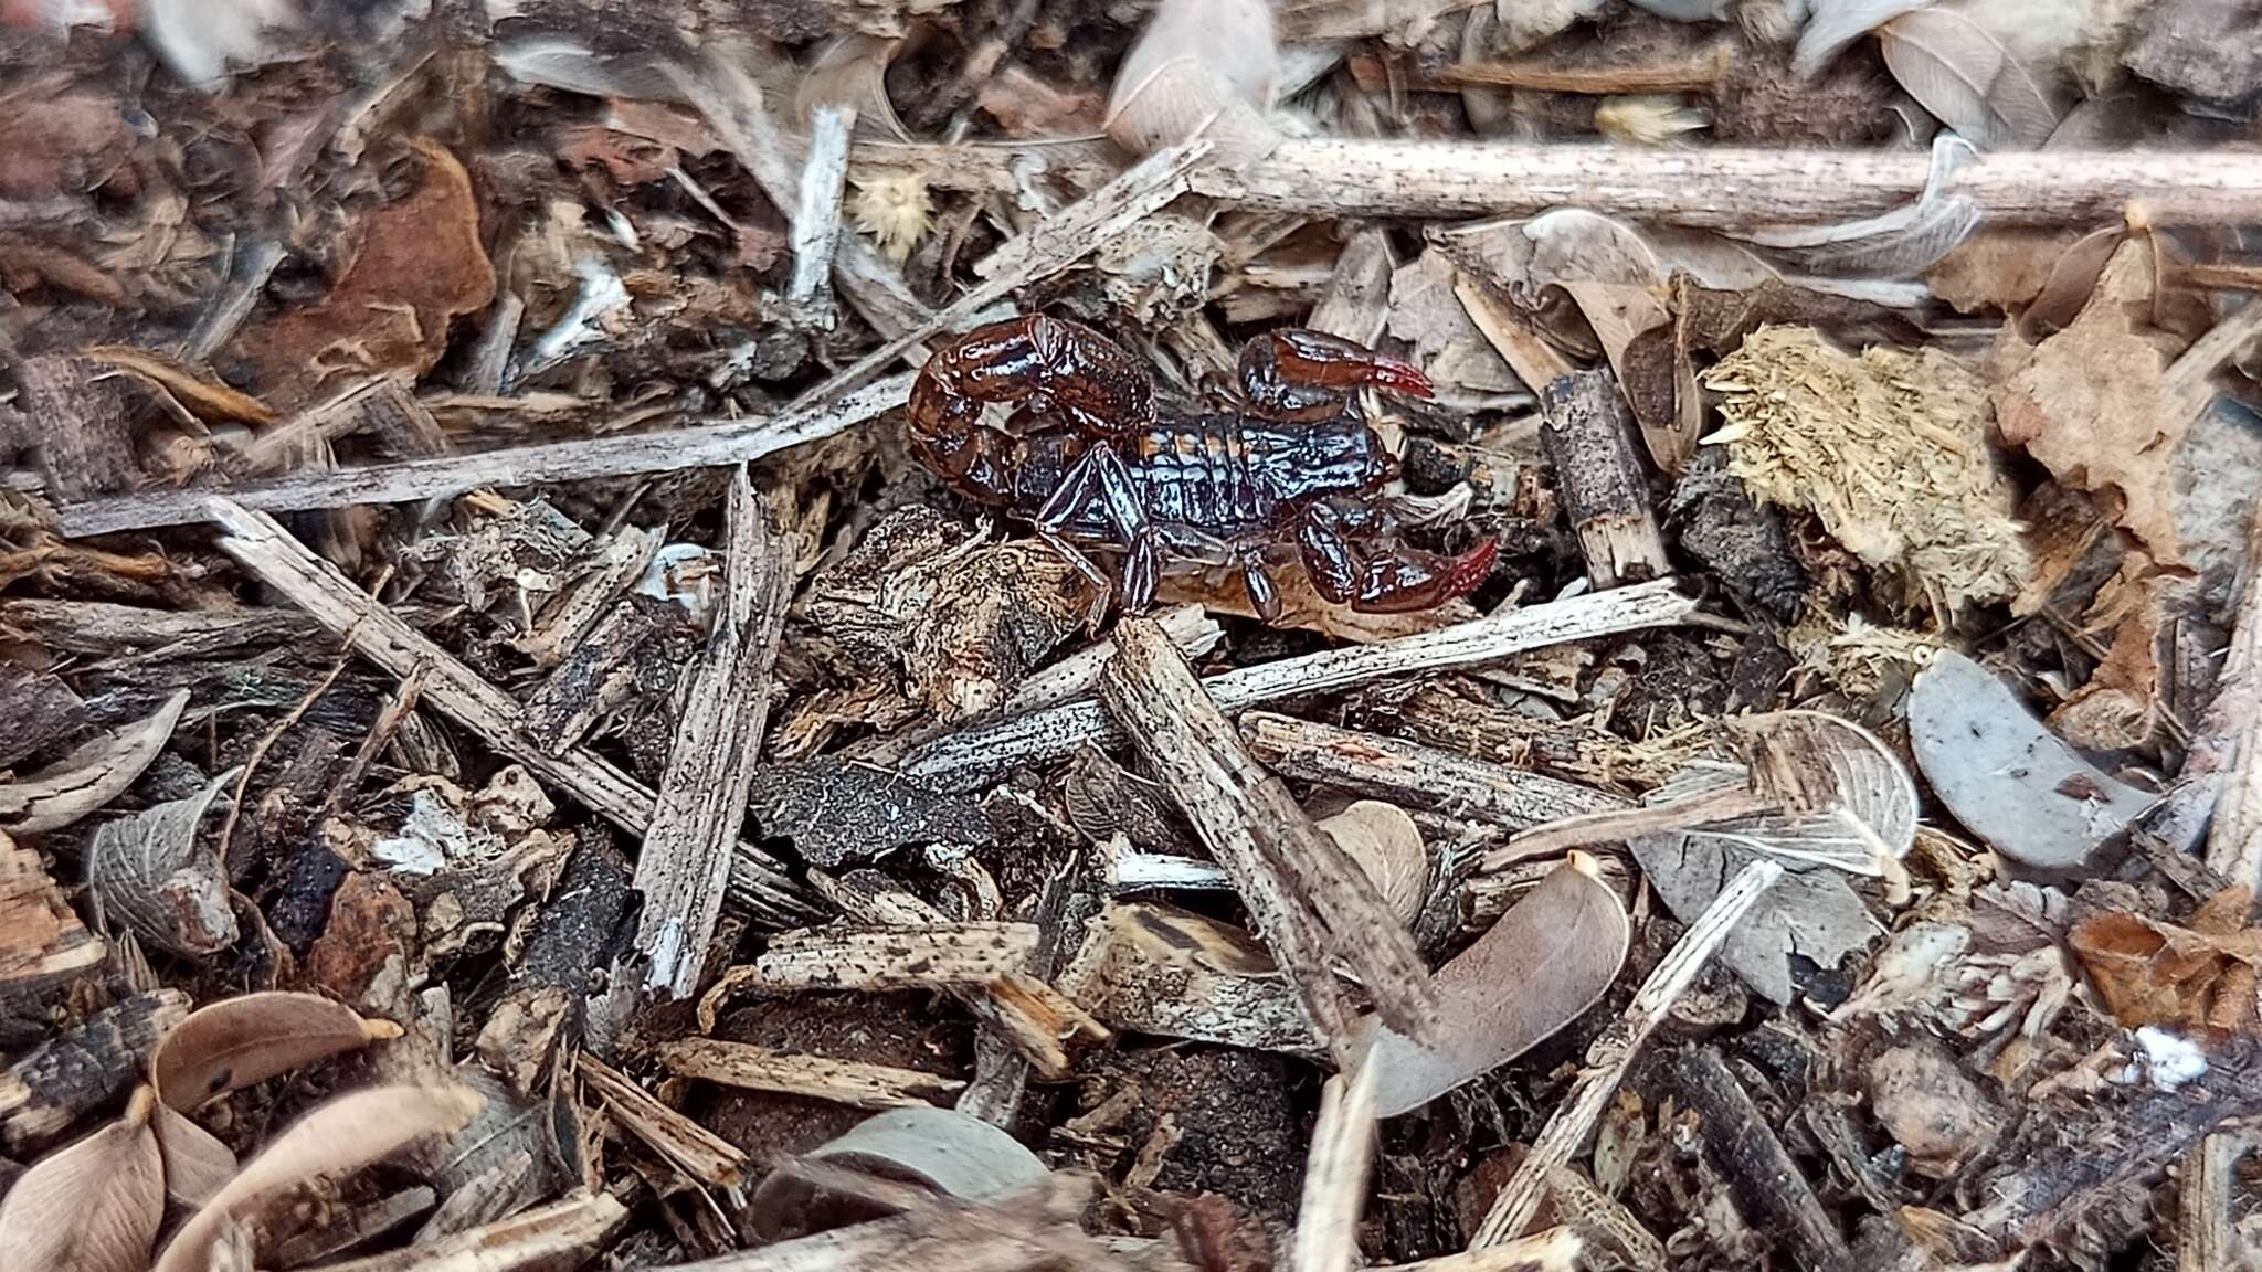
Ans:
{"type": "Polygon", "coordinates": [[[1674,1091],[1696,1114],[1699,1134],[1728,1177],[1737,1204],[1780,1231],[1798,1267],[1853,1272],[1857,1263],[1837,1220],[1728,1071],[1728,1062],[1708,1046],[1692,1046],[1674,1057],[1674,1091]]]}

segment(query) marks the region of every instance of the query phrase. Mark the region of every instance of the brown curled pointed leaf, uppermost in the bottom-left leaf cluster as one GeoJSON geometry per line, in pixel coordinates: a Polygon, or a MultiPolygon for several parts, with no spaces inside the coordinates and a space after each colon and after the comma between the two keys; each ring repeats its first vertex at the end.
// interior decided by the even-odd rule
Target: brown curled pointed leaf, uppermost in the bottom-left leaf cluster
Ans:
{"type": "Polygon", "coordinates": [[[185,1114],[215,1095],[398,1037],[400,1025],[364,1021],[321,994],[242,994],[197,1007],[174,1025],[149,1057],[149,1080],[165,1105],[185,1114]]]}

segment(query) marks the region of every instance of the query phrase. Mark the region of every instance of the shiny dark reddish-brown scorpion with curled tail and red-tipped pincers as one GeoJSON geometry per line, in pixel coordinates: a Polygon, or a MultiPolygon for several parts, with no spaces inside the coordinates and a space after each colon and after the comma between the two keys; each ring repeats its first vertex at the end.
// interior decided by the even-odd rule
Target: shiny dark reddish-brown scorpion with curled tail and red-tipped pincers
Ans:
{"type": "Polygon", "coordinates": [[[1316,330],[1276,330],[1240,355],[1235,389],[1203,403],[1156,394],[1147,369],[1088,326],[1031,315],[975,328],[912,385],[918,457],[968,498],[1036,527],[1093,582],[1083,548],[1122,555],[1126,611],[1169,566],[1233,566],[1267,620],[1267,570],[1298,561],[1312,588],[1364,611],[1430,609],[1493,568],[1398,541],[1382,487],[1398,462],[1357,410],[1366,387],[1430,396],[1421,369],[1316,330]],[[984,421],[1009,407],[1004,426],[984,421]]]}

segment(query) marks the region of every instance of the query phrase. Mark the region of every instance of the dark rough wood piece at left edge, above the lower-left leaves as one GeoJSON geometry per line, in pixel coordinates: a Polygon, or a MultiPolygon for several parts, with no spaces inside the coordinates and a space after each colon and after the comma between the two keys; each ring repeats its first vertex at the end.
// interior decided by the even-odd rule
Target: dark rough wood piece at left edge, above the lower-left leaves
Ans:
{"type": "Polygon", "coordinates": [[[104,1007],[0,1073],[0,1148],[34,1150],[122,1095],[158,1039],[188,1016],[188,994],[152,989],[104,1007]]]}

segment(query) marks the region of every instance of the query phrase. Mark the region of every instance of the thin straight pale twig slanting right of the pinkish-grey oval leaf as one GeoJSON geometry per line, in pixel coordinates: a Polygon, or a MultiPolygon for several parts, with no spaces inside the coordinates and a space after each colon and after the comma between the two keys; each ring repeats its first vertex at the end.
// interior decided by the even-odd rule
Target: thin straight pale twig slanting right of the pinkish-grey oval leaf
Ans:
{"type": "Polygon", "coordinates": [[[1642,1048],[1642,1041],[1665,1021],[1665,1014],[1672,1012],[1681,994],[1703,971],[1703,964],[1728,939],[1735,923],[1742,921],[1744,912],[1778,878],[1782,878],[1780,862],[1753,860],[1681,932],[1681,939],[1665,953],[1656,971],[1633,991],[1633,1003],[1626,1005],[1626,1012],[1586,1048],[1586,1068],[1579,1071],[1570,1098],[1556,1105],[1547,1125],[1540,1127],[1540,1138],[1531,1143],[1531,1152],[1525,1154],[1516,1175],[1493,1197],[1493,1209],[1486,1211],[1484,1224],[1477,1227],[1477,1236],[1468,1243],[1470,1249],[1500,1245],[1525,1231],[1531,1213],[1540,1206],[1540,1195],[1547,1191],[1547,1172],[1579,1154],[1586,1136],[1595,1134],[1601,1107],[1611,1102],[1620,1082],[1626,1080],[1626,1071],[1633,1066],[1633,1055],[1642,1048]]]}

